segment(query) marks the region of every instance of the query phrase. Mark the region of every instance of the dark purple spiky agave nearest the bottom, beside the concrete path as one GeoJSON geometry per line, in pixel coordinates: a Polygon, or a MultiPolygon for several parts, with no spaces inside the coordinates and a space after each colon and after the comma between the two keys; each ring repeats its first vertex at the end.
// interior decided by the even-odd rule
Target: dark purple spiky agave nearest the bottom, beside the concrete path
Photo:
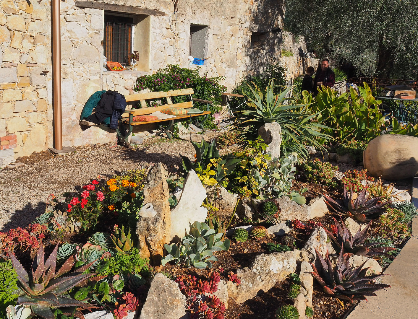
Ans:
{"type": "Polygon", "coordinates": [[[336,266],[333,266],[329,260],[328,252],[325,259],[315,249],[316,256],[320,261],[320,269],[312,265],[312,274],[323,287],[324,292],[338,299],[345,299],[350,302],[354,300],[366,300],[365,296],[376,296],[375,291],[390,288],[386,284],[376,284],[375,280],[385,274],[366,276],[370,267],[364,268],[362,265],[351,268],[349,262],[349,254],[344,254],[344,248],[339,253],[336,266]]]}

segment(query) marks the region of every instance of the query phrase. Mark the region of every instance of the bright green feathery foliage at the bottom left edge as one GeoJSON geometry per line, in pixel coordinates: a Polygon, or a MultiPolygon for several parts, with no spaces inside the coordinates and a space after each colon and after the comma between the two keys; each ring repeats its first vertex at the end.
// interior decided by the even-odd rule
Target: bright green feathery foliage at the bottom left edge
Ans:
{"type": "Polygon", "coordinates": [[[13,269],[12,263],[0,261],[0,317],[6,318],[6,307],[14,306],[18,299],[18,275],[13,269]]]}

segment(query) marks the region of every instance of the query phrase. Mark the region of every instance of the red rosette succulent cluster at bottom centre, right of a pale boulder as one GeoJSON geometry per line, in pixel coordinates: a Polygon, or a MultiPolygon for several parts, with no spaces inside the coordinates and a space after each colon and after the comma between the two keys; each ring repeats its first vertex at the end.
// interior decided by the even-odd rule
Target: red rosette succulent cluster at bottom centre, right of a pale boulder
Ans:
{"type": "Polygon", "coordinates": [[[197,281],[195,276],[181,275],[176,278],[178,287],[186,296],[187,309],[192,319],[223,319],[225,305],[217,296],[206,297],[204,294],[214,294],[218,290],[221,276],[214,271],[209,273],[208,280],[197,281]]]}

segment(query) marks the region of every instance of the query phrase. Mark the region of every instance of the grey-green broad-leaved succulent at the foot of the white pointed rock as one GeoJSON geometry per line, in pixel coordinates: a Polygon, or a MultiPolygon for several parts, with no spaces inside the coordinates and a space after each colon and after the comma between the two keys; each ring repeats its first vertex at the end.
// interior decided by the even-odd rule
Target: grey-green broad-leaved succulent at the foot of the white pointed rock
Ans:
{"type": "Polygon", "coordinates": [[[213,252],[226,251],[231,245],[229,239],[221,241],[223,233],[215,233],[209,225],[195,221],[190,224],[189,234],[184,236],[178,245],[164,244],[168,255],[161,259],[161,265],[165,266],[169,261],[176,260],[176,265],[182,263],[187,267],[193,265],[196,268],[212,268],[211,261],[218,260],[213,252]]]}

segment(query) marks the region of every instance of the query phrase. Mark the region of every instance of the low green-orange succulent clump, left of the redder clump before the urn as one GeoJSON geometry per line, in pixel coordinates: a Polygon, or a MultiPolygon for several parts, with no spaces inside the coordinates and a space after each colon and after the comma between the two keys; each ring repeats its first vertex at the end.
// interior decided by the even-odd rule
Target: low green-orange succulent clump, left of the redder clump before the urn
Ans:
{"type": "Polygon", "coordinates": [[[337,187],[338,185],[333,180],[336,170],[338,170],[338,166],[332,166],[330,162],[321,162],[318,158],[303,162],[300,166],[300,172],[308,182],[329,187],[337,187]]]}

